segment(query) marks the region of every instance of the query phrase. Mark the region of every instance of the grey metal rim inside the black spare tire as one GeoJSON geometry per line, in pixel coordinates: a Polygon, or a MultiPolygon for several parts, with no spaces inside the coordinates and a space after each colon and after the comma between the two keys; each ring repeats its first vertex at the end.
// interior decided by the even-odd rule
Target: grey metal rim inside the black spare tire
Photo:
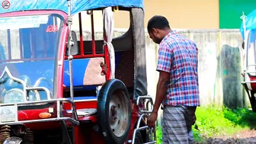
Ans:
{"type": "Polygon", "coordinates": [[[123,91],[114,91],[109,106],[110,128],[115,136],[120,137],[126,132],[128,126],[128,101],[123,91]]]}

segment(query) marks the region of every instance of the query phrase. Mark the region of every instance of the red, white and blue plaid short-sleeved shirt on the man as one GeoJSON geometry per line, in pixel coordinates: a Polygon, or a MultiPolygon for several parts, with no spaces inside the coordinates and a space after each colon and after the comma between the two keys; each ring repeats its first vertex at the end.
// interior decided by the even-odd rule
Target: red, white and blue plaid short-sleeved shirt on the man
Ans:
{"type": "Polygon", "coordinates": [[[170,73],[163,105],[200,106],[197,53],[197,45],[176,31],[159,44],[156,70],[170,73]]]}

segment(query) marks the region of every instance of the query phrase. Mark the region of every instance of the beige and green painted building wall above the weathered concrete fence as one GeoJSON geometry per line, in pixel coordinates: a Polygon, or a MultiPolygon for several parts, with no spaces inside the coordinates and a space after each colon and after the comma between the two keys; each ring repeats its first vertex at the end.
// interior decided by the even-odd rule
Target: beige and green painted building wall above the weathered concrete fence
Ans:
{"type": "MultiPolygon", "coordinates": [[[[164,15],[178,29],[236,29],[240,27],[242,11],[249,14],[256,8],[255,0],[145,0],[145,26],[155,14],[164,15]]],[[[83,25],[90,26],[90,17],[82,14],[83,25]]],[[[130,15],[114,13],[115,28],[128,28],[130,15]]],[[[78,18],[78,15],[75,16],[78,18]]],[[[102,27],[102,13],[94,13],[95,28],[102,27]]],[[[78,22],[75,22],[78,26],[78,22]]]]}

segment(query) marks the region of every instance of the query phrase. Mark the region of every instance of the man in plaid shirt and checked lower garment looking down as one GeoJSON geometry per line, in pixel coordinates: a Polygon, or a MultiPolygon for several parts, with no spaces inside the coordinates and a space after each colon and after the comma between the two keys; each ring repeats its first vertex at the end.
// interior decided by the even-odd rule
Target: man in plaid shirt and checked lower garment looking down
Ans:
{"type": "Polygon", "coordinates": [[[163,16],[156,15],[149,20],[148,32],[150,38],[159,44],[156,68],[159,79],[155,105],[147,123],[151,127],[155,126],[162,104],[163,144],[191,143],[195,111],[200,106],[197,45],[171,30],[168,20],[163,16]]]}

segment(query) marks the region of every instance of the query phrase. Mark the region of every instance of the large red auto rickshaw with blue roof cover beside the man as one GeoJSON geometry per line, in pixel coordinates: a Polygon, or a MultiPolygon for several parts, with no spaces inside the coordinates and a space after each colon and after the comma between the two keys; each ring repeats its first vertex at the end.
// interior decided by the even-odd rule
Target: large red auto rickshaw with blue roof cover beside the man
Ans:
{"type": "Polygon", "coordinates": [[[0,144],[156,142],[155,128],[146,125],[153,101],[142,0],[2,5],[0,144]],[[82,11],[91,16],[92,40],[83,40],[82,11]],[[103,40],[94,39],[94,11],[103,14],[103,40]],[[130,28],[112,38],[118,11],[130,12],[130,28]]]}

